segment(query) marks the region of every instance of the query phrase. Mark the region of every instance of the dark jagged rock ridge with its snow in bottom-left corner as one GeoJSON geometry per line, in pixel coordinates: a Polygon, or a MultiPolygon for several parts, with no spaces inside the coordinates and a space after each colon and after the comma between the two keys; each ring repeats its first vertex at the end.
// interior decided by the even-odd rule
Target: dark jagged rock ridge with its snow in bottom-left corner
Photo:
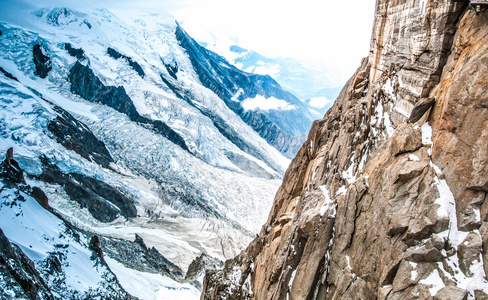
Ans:
{"type": "MultiPolygon", "coordinates": [[[[16,174],[19,173],[5,171],[14,166],[16,172],[20,171],[20,174],[23,174],[23,170],[13,159],[13,149],[9,148],[5,161],[0,164],[0,199],[2,199],[0,211],[3,214],[1,219],[4,220],[3,229],[0,228],[0,298],[136,299],[120,286],[117,278],[108,268],[103,258],[98,236],[92,236],[89,244],[84,244],[83,241],[87,241],[85,232],[51,209],[46,194],[40,188],[32,188],[25,181],[16,180],[16,174]],[[34,201],[39,202],[42,208],[39,209],[37,204],[33,205],[34,201]],[[8,212],[5,213],[5,210],[12,208],[17,209],[17,212],[14,213],[15,218],[9,217],[8,212]],[[24,217],[33,223],[20,223],[22,225],[19,225],[16,218],[24,217]],[[5,221],[16,224],[14,225],[16,228],[5,226],[5,221]],[[39,231],[28,227],[32,224],[36,226],[36,229],[39,228],[39,231]],[[22,231],[19,228],[26,230],[22,231]],[[55,237],[49,238],[48,234],[52,234],[50,230],[53,229],[55,237]],[[25,239],[23,235],[26,234],[26,231],[36,233],[25,239]],[[42,236],[45,247],[42,250],[32,246],[38,242],[33,238],[36,234],[42,236]],[[28,241],[28,246],[23,244],[25,240],[28,241]],[[65,241],[67,243],[64,243],[65,241]],[[86,255],[88,249],[93,252],[90,258],[86,255]],[[76,255],[77,251],[86,251],[85,255],[82,254],[75,258],[77,263],[85,260],[81,263],[84,264],[82,273],[90,272],[89,269],[93,267],[95,270],[89,274],[103,278],[103,281],[98,283],[95,281],[98,287],[78,291],[66,284],[70,278],[69,272],[77,268],[76,263],[73,267],[73,261],[69,261],[68,253],[76,255]]],[[[80,273],[76,273],[76,270],[74,272],[75,276],[80,278],[80,273]]],[[[78,283],[81,282],[78,281],[78,283]]]]}

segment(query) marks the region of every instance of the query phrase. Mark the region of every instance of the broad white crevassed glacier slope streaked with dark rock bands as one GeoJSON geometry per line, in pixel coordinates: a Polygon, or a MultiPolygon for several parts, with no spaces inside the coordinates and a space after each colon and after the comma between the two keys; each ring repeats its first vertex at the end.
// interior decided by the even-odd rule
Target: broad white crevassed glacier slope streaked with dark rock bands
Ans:
{"type": "MultiPolygon", "coordinates": [[[[0,153],[14,148],[27,182],[46,192],[51,207],[91,233],[130,241],[138,234],[184,271],[201,253],[221,260],[239,253],[265,222],[289,160],[201,84],[174,35],[177,25],[171,17],[146,16],[126,23],[108,10],[24,10],[13,4],[0,17],[0,153]],[[67,43],[82,49],[83,58],[71,56],[67,43]],[[36,45],[49,61],[45,78],[35,74],[36,45]],[[130,60],[110,56],[109,47],[130,60]],[[144,76],[129,62],[137,62],[144,76]],[[67,79],[77,63],[90,68],[105,90],[123,88],[135,110],[124,112],[73,93],[79,82],[67,79]],[[177,79],[168,68],[176,65],[177,79]],[[135,121],[130,114],[140,118],[135,121]],[[72,149],[53,131],[56,120],[58,127],[69,128],[63,137],[74,141],[72,149]],[[187,149],[155,124],[165,124],[184,140],[187,149]],[[97,139],[106,147],[106,161],[111,162],[99,163],[96,156],[105,153],[102,150],[83,154],[79,149],[89,145],[76,144],[73,132],[92,136],[90,141],[97,139]],[[133,203],[136,216],[124,217],[123,204],[90,187],[101,183],[133,203]],[[118,217],[107,222],[100,212],[94,214],[92,203],[74,199],[83,193],[118,217]]],[[[9,231],[12,225],[4,222],[0,228],[31,254],[27,242],[17,238],[22,233],[9,231]]],[[[31,257],[35,262],[45,259],[49,251],[39,243],[32,245],[41,253],[31,257]]],[[[126,273],[127,267],[112,259],[107,262],[117,276],[126,273]]],[[[145,276],[136,271],[130,274],[129,278],[145,276]]],[[[170,279],[157,276],[152,281],[154,291],[164,294],[161,291],[170,279]]],[[[80,285],[76,280],[66,284],[80,291],[96,287],[98,277],[89,277],[80,279],[80,285]]],[[[130,283],[125,286],[122,279],[120,283],[130,290],[130,283]]],[[[181,292],[195,294],[188,287],[181,292]]]]}

